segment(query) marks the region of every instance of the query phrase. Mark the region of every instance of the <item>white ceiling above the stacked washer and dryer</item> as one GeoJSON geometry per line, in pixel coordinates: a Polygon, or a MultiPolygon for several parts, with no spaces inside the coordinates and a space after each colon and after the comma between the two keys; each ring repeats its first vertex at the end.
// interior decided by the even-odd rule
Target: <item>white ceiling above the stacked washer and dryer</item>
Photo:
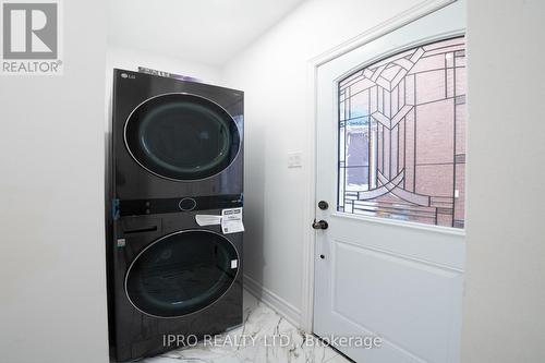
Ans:
{"type": "Polygon", "coordinates": [[[304,0],[110,0],[109,41],[220,65],[304,0]]]}

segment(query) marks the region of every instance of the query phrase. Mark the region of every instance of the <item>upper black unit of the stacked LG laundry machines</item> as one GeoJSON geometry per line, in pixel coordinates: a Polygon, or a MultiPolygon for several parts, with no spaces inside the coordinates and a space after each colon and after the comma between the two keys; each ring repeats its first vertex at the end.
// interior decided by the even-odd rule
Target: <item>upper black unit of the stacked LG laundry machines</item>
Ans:
{"type": "Polygon", "coordinates": [[[113,198],[242,193],[242,92],[114,70],[112,106],[113,198]]]}

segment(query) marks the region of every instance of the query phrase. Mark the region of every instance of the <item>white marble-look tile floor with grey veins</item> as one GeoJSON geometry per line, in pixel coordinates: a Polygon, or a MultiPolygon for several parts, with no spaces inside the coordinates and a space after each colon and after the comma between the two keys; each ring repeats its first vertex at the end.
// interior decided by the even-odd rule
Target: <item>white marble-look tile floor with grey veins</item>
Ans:
{"type": "Polygon", "coordinates": [[[244,291],[244,325],[144,363],[350,363],[244,291]],[[245,343],[244,343],[245,339],[245,343]],[[310,343],[312,342],[312,343],[310,343]]]}

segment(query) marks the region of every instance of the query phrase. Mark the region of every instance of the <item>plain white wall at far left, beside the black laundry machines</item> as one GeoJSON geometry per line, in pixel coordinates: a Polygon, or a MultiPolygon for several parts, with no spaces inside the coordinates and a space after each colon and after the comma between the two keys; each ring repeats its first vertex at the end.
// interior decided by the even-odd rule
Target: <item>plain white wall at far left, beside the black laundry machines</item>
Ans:
{"type": "Polygon", "coordinates": [[[63,1],[64,75],[0,77],[0,361],[108,362],[106,1],[63,1]]]}

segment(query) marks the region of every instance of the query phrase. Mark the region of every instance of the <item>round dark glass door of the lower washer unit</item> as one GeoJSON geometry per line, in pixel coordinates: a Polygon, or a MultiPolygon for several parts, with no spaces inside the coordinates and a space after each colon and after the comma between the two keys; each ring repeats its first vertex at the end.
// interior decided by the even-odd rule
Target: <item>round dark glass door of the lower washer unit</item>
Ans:
{"type": "Polygon", "coordinates": [[[204,230],[168,234],[143,250],[125,277],[129,300],[141,312],[178,317],[220,299],[237,278],[239,256],[225,237],[204,230]]]}

